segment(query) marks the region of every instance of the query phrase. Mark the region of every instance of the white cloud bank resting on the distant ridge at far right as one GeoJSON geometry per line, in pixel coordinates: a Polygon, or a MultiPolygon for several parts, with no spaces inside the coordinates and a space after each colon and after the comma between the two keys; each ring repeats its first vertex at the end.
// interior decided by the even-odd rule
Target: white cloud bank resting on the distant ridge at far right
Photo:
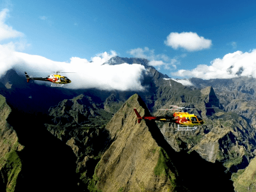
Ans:
{"type": "Polygon", "coordinates": [[[211,61],[211,65],[198,65],[193,70],[179,70],[172,76],[202,79],[227,79],[239,76],[256,78],[256,49],[252,52],[236,51],[211,61]]]}

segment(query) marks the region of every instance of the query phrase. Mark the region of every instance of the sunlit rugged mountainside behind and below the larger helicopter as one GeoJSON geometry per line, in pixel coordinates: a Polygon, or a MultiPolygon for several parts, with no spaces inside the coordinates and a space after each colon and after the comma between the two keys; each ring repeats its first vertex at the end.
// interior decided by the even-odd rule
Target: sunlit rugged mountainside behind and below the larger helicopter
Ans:
{"type": "MultiPolygon", "coordinates": [[[[175,85],[172,82],[171,84],[175,85]]],[[[175,90],[175,86],[165,88],[167,89],[164,92],[171,96],[165,96],[165,99],[160,96],[161,104],[164,104],[162,109],[173,104],[196,108],[190,109],[190,113],[201,116],[205,121],[205,124],[195,131],[174,131],[177,125],[157,123],[165,140],[173,149],[177,152],[196,151],[209,162],[220,161],[227,171],[232,173],[247,166],[250,159],[255,156],[255,131],[241,116],[221,110],[223,106],[211,86],[202,90],[175,90]]],[[[154,115],[163,116],[164,113],[166,112],[156,111],[154,115]]]]}

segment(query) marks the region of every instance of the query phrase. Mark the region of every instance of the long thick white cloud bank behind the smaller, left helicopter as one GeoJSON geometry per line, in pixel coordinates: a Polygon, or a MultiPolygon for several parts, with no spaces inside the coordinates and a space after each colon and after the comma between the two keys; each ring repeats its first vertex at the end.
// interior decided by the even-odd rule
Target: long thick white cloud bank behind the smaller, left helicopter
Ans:
{"type": "MultiPolygon", "coordinates": [[[[61,70],[62,72],[76,72],[74,74],[63,74],[71,79],[72,83],[67,85],[67,88],[71,89],[143,90],[140,80],[145,67],[127,63],[102,65],[113,56],[116,56],[114,51],[111,51],[111,54],[104,52],[91,58],[92,61],[71,58],[70,63],[67,63],[48,60],[42,56],[16,52],[0,45],[0,77],[10,68],[13,68],[22,76],[26,71],[33,77],[46,77],[48,74],[43,72],[61,70]]],[[[24,81],[26,81],[25,76],[24,81]]],[[[48,84],[50,85],[50,83],[48,84]]]]}

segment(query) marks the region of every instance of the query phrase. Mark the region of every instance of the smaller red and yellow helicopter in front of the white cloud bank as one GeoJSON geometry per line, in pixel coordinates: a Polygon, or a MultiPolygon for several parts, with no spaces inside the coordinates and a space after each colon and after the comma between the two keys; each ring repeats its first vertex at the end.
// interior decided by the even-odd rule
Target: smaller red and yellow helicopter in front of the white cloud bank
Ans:
{"type": "MultiPolygon", "coordinates": [[[[71,83],[70,79],[65,76],[60,76],[60,71],[55,72],[56,74],[51,74],[47,77],[29,77],[28,74],[25,72],[25,76],[27,79],[27,82],[29,83],[30,80],[38,80],[38,81],[49,81],[51,82],[51,86],[63,86],[64,84],[71,83]]],[[[67,72],[61,72],[61,73],[67,73],[67,72]]],[[[70,73],[70,72],[68,72],[70,73]]]]}

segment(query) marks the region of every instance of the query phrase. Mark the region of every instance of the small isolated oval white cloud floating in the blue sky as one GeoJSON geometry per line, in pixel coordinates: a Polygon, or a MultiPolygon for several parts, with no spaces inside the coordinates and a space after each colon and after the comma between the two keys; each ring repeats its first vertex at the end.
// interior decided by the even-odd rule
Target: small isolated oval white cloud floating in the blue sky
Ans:
{"type": "Polygon", "coordinates": [[[173,49],[181,47],[188,51],[199,51],[202,49],[209,49],[212,45],[212,41],[205,39],[204,36],[198,36],[193,32],[182,32],[170,33],[164,41],[164,44],[173,49]]]}

